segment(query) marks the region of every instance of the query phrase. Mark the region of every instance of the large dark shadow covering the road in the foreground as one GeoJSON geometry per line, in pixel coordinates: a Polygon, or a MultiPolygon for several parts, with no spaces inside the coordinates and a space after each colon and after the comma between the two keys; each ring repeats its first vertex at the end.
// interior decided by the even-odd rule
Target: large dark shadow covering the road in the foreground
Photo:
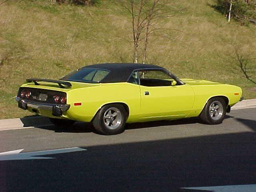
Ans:
{"type": "Polygon", "coordinates": [[[81,148],[0,162],[0,191],[199,192],[180,188],[256,183],[254,132],[81,148]]]}

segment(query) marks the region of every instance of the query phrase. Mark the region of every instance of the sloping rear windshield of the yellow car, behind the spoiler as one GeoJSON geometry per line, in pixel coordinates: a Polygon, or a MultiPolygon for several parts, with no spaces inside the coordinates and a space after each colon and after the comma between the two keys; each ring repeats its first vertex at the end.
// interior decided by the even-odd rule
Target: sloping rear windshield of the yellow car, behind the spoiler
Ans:
{"type": "Polygon", "coordinates": [[[109,74],[108,70],[82,68],[74,71],[60,80],[85,82],[85,83],[99,83],[109,74]]]}

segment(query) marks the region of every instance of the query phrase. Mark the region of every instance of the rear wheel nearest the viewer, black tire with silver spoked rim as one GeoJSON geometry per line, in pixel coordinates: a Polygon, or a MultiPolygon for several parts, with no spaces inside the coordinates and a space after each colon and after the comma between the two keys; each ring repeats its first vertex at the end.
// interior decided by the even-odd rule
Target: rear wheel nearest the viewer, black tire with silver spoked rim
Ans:
{"type": "Polygon", "coordinates": [[[127,112],[122,104],[108,104],[97,112],[92,124],[100,134],[116,135],[124,132],[126,117],[127,112]]]}

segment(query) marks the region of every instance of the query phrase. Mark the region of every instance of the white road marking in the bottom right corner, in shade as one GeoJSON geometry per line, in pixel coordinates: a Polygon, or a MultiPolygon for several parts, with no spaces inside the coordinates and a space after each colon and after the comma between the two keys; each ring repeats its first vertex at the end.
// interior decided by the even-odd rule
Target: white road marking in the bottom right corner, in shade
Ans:
{"type": "Polygon", "coordinates": [[[182,189],[207,190],[212,192],[256,192],[255,185],[226,185],[212,187],[186,187],[182,189]]]}

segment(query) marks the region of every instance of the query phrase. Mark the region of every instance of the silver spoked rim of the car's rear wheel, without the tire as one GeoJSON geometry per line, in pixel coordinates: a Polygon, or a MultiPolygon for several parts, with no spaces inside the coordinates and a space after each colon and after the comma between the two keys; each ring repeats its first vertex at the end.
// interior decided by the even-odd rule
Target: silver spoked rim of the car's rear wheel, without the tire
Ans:
{"type": "Polygon", "coordinates": [[[122,114],[118,108],[111,107],[104,113],[104,124],[106,128],[114,130],[122,123],[122,114]]]}

